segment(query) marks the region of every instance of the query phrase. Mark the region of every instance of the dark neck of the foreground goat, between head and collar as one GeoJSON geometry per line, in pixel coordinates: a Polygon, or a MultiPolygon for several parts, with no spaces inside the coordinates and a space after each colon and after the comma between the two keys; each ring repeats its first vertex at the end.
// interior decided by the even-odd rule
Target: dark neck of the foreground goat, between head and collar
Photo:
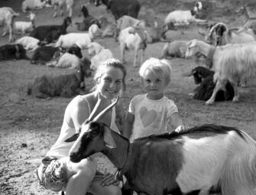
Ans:
{"type": "Polygon", "coordinates": [[[128,139],[118,133],[112,132],[112,137],[115,140],[116,149],[107,149],[102,153],[112,161],[118,170],[121,170],[127,163],[130,143],[128,139]]]}

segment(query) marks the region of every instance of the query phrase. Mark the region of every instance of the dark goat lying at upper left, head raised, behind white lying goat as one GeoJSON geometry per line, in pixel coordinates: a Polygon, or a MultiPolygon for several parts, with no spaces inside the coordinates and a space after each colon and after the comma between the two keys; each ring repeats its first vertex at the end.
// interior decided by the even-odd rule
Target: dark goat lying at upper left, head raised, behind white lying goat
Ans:
{"type": "Polygon", "coordinates": [[[57,40],[60,35],[66,34],[66,28],[72,24],[71,18],[66,17],[61,25],[48,25],[38,26],[31,31],[30,37],[37,38],[38,40],[47,41],[47,43],[57,40]]]}

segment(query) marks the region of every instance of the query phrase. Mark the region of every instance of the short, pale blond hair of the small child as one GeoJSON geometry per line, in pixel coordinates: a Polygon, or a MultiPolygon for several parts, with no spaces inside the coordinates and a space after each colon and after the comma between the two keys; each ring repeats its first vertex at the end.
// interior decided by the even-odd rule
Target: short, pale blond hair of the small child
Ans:
{"type": "Polygon", "coordinates": [[[141,65],[141,69],[139,70],[139,74],[142,78],[144,78],[146,70],[154,72],[155,74],[163,75],[165,79],[165,84],[168,85],[170,83],[171,65],[167,59],[147,59],[141,65]]]}

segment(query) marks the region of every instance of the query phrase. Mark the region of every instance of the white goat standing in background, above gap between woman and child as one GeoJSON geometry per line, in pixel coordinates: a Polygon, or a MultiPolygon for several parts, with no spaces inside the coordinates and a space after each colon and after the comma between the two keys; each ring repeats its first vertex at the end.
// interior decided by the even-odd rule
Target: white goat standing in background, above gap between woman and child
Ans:
{"type": "Polygon", "coordinates": [[[142,50],[141,64],[144,60],[144,53],[147,48],[147,34],[141,27],[127,27],[119,34],[122,62],[125,63],[125,49],[134,50],[134,63],[137,66],[138,50],[142,50]]]}

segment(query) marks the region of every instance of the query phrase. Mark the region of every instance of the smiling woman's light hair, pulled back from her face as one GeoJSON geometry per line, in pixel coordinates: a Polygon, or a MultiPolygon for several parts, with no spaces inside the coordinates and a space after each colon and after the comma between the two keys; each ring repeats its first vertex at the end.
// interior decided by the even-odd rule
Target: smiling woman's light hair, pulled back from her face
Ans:
{"type": "MultiPolygon", "coordinates": [[[[97,82],[99,80],[99,78],[102,77],[102,75],[105,73],[105,68],[107,67],[113,67],[115,69],[120,69],[123,73],[123,78],[122,78],[122,85],[123,88],[122,90],[125,91],[125,77],[126,77],[126,69],[125,66],[122,64],[122,62],[120,62],[118,59],[107,59],[104,62],[102,62],[98,68],[96,69],[96,73],[94,75],[94,80],[97,82]]],[[[96,89],[96,87],[94,88],[96,89]]]]}

